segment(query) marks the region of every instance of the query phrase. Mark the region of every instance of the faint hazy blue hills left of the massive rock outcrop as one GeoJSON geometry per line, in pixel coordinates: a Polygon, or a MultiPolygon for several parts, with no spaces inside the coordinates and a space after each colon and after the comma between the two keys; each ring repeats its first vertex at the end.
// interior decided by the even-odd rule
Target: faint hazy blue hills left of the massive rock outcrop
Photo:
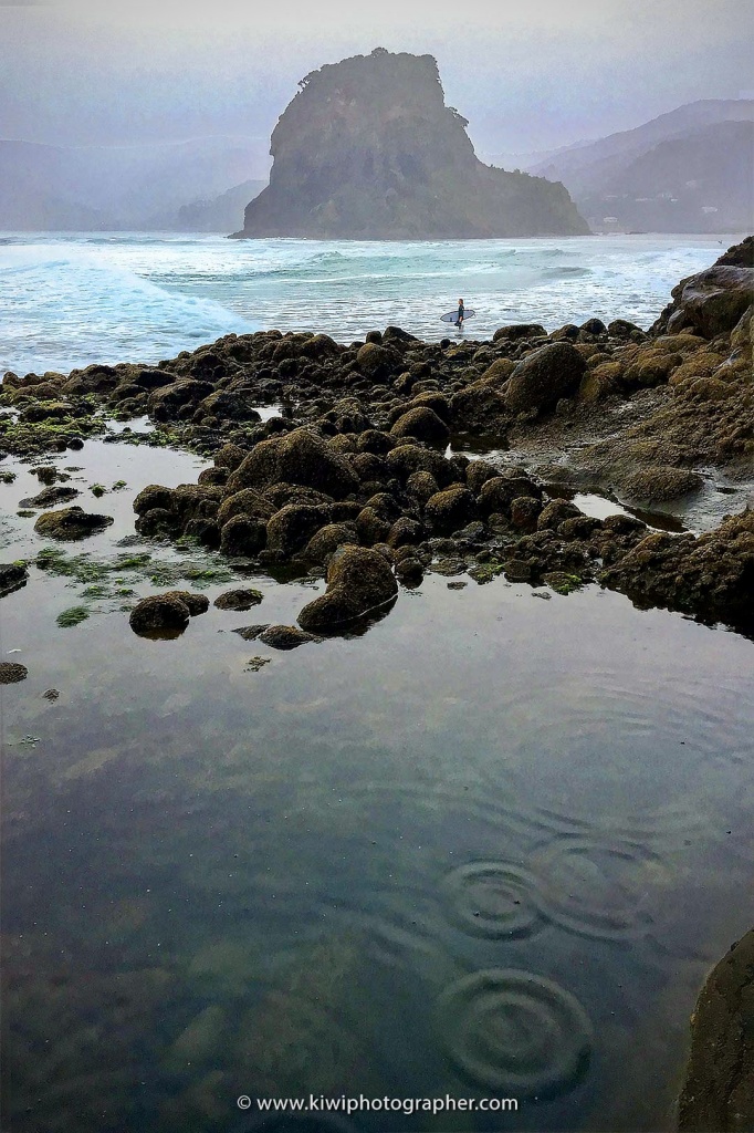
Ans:
{"type": "MultiPolygon", "coordinates": [[[[154,229],[260,165],[254,139],[148,146],[0,142],[0,229],[154,229]]],[[[247,197],[248,199],[248,197],[247,197]]]]}

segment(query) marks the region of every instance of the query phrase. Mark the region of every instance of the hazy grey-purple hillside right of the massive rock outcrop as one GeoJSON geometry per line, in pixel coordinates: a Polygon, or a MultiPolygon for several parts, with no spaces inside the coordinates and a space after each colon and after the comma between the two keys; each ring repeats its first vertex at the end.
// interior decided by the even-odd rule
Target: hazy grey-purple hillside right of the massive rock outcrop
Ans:
{"type": "Polygon", "coordinates": [[[563,180],[592,228],[738,231],[754,208],[753,121],[754,100],[694,102],[532,171],[563,180]]]}

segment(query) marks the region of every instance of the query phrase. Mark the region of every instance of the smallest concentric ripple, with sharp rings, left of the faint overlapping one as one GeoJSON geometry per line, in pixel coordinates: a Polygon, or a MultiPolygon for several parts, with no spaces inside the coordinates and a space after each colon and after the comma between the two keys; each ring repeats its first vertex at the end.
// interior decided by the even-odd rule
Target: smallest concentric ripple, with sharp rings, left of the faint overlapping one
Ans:
{"type": "Polygon", "coordinates": [[[446,878],[451,909],[469,932],[490,939],[531,936],[542,919],[532,874],[504,861],[477,861],[446,878]]]}

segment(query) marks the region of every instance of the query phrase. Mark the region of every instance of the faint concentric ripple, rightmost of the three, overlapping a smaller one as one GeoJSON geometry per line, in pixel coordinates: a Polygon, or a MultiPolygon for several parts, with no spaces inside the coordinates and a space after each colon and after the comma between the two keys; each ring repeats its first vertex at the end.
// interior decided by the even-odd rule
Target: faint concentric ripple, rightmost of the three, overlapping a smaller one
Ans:
{"type": "Polygon", "coordinates": [[[532,860],[546,915],[579,936],[625,939],[641,932],[642,906],[663,871],[661,860],[629,842],[557,838],[532,860]]]}

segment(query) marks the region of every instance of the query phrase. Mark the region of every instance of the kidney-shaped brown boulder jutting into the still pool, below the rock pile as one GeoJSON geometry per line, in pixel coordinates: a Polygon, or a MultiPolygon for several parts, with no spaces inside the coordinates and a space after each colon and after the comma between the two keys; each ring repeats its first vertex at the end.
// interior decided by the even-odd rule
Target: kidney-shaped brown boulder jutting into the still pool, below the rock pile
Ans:
{"type": "Polygon", "coordinates": [[[396,594],[395,577],[380,554],[345,546],[331,560],[326,593],[303,607],[298,622],[307,632],[339,633],[392,602],[396,594]]]}

